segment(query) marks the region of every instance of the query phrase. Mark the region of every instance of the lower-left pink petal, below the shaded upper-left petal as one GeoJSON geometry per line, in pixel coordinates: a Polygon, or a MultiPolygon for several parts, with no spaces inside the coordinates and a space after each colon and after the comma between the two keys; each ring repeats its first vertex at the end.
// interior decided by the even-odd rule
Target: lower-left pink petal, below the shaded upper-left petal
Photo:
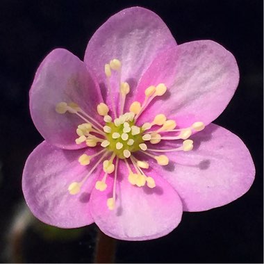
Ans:
{"type": "Polygon", "coordinates": [[[70,183],[81,181],[88,173],[88,168],[78,162],[81,154],[83,150],[58,149],[44,141],[26,160],[22,179],[24,197],[33,215],[42,222],[62,228],[94,222],[89,199],[97,175],[88,179],[78,195],[69,195],[67,190],[70,183]]]}

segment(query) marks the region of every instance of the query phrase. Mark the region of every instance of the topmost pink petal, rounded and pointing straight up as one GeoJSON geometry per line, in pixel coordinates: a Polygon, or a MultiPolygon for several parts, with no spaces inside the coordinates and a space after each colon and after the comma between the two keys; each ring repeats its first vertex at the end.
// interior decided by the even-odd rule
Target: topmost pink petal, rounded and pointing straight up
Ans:
{"type": "MultiPolygon", "coordinates": [[[[143,72],[160,51],[175,47],[176,42],[165,23],[155,13],[145,8],[124,9],[110,17],[92,36],[85,51],[84,62],[93,69],[106,96],[104,65],[117,58],[122,62],[122,81],[131,85],[131,96],[143,72]]],[[[115,78],[112,78],[115,79],[115,78]]],[[[113,95],[118,99],[119,84],[111,80],[113,95]]],[[[131,101],[131,97],[128,97],[131,101]]]]}

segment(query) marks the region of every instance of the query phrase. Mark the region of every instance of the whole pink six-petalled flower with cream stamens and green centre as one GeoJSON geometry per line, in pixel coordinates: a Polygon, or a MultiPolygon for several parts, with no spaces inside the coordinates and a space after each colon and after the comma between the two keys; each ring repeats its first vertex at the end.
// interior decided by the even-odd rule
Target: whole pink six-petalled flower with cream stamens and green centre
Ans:
{"type": "Polygon", "coordinates": [[[238,86],[233,55],[211,40],[177,45],[145,8],[110,17],[84,62],[65,49],[44,58],[30,91],[44,137],[23,190],[33,214],[108,236],[165,236],[183,211],[242,196],[254,181],[247,147],[211,122],[238,86]]]}

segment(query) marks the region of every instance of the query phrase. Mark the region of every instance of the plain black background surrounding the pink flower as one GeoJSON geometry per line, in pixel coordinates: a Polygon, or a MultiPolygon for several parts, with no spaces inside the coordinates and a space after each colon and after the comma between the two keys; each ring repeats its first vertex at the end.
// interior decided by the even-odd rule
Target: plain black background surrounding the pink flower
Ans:
{"type": "MultiPolygon", "coordinates": [[[[144,242],[118,241],[116,261],[263,263],[261,0],[0,0],[0,261],[14,260],[8,258],[6,250],[10,247],[10,224],[24,201],[22,170],[28,154],[42,141],[28,110],[28,90],[35,70],[56,47],[68,49],[82,59],[94,31],[110,15],[131,6],[143,6],[157,13],[178,44],[211,39],[236,57],[240,84],[215,124],[245,142],[256,165],[256,179],[246,195],[227,206],[184,213],[179,227],[168,236],[144,242]]],[[[26,230],[15,245],[22,250],[19,254],[24,255],[25,262],[91,261],[95,225],[79,229],[82,235],[64,242],[45,240],[38,232],[26,230]]]]}

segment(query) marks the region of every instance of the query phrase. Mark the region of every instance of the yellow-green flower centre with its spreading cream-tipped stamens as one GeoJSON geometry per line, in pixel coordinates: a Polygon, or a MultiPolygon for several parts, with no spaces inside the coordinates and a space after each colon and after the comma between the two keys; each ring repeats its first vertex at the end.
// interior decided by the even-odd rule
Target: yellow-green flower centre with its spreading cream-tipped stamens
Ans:
{"type": "Polygon", "coordinates": [[[175,129],[175,120],[167,119],[162,113],[156,115],[152,121],[149,120],[150,122],[142,124],[142,126],[137,126],[138,117],[147,109],[147,106],[149,106],[153,99],[162,97],[165,94],[167,87],[164,83],[149,86],[145,90],[144,101],[142,103],[134,101],[129,107],[129,112],[124,113],[126,95],[129,94],[130,88],[129,83],[121,82],[121,69],[122,64],[117,59],[111,60],[104,68],[106,86],[112,106],[112,117],[108,115],[109,108],[106,104],[101,103],[97,106],[97,113],[104,118],[104,126],[74,103],[60,102],[56,106],[57,113],[76,114],[83,120],[84,123],[80,124],[76,129],[76,134],[79,136],[75,140],[76,144],[83,145],[82,147],[85,147],[85,145],[88,147],[96,147],[99,143],[102,147],[100,151],[92,156],[85,154],[84,151],[84,154],[79,157],[79,163],[86,166],[90,164],[90,160],[100,156],[81,181],[74,181],[69,184],[69,193],[71,195],[78,194],[86,179],[102,163],[104,177],[97,181],[95,188],[99,191],[106,190],[108,174],[114,173],[113,196],[106,201],[110,210],[115,208],[115,189],[118,176],[117,167],[120,159],[124,160],[126,164],[127,179],[131,185],[137,187],[147,185],[148,188],[155,188],[156,183],[154,178],[147,176],[144,172],[144,170],[149,168],[149,163],[145,160],[139,160],[139,157],[137,158],[137,152],[154,158],[158,165],[165,166],[169,163],[169,159],[164,154],[157,155],[157,153],[192,150],[193,142],[188,138],[192,135],[192,131],[201,131],[204,129],[203,122],[195,122],[189,127],[175,129]],[[119,108],[114,104],[110,86],[110,77],[113,71],[117,72],[117,78],[119,79],[119,108]],[[117,113],[119,113],[119,117],[117,117],[117,113]],[[151,145],[156,145],[161,140],[183,140],[183,142],[174,149],[151,148],[151,145]]]}

